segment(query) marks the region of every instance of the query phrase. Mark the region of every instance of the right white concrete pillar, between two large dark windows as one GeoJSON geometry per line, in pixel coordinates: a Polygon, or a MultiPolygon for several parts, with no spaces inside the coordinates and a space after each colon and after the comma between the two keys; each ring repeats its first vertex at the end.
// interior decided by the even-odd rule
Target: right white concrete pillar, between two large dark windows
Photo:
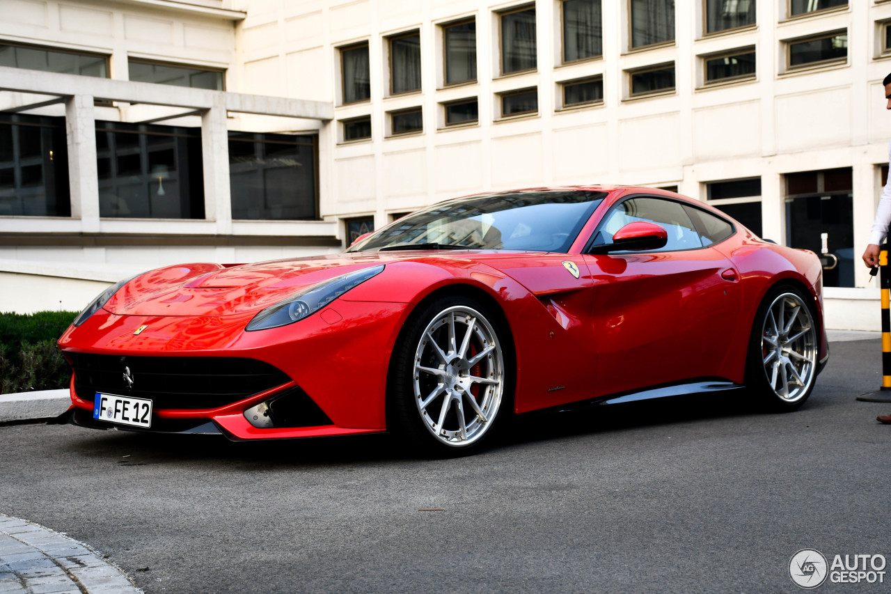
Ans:
{"type": "Polygon", "coordinates": [[[204,161],[204,216],[217,221],[217,234],[232,234],[232,192],[229,187],[229,131],[225,95],[201,114],[201,158],[204,161]]]}

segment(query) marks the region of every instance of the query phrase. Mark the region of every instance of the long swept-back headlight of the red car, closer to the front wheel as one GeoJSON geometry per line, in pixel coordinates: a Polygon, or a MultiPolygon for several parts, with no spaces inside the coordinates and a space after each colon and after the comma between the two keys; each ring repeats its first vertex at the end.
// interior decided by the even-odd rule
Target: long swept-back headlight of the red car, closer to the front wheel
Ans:
{"type": "Polygon", "coordinates": [[[264,309],[248,322],[245,330],[266,330],[293,324],[314,314],[356,285],[361,285],[372,276],[380,274],[383,269],[383,264],[363,268],[343,276],[336,276],[320,285],[313,285],[264,309]]]}

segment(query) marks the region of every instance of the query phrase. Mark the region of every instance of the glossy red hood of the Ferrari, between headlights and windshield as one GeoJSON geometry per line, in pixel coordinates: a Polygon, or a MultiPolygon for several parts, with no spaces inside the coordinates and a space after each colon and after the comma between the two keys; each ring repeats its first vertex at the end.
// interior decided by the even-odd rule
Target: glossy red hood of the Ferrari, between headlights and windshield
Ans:
{"type": "Polygon", "coordinates": [[[488,260],[504,252],[356,252],[255,264],[183,264],[151,270],[106,303],[126,316],[223,316],[259,311],[335,276],[399,260],[488,260]]]}

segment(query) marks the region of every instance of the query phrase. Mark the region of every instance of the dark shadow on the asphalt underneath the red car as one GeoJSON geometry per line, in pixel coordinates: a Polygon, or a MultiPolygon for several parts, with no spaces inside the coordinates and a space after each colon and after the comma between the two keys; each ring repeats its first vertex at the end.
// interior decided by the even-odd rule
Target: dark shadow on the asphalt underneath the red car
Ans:
{"type": "MultiPolygon", "coordinates": [[[[809,402],[809,407],[820,406],[809,402]]],[[[529,442],[607,434],[629,429],[764,414],[739,394],[674,396],[570,412],[535,412],[511,418],[476,455],[511,450],[529,442]]],[[[370,464],[423,460],[395,436],[382,434],[275,441],[228,441],[222,436],[78,431],[78,450],[122,466],[224,461],[269,466],[370,464]]]]}

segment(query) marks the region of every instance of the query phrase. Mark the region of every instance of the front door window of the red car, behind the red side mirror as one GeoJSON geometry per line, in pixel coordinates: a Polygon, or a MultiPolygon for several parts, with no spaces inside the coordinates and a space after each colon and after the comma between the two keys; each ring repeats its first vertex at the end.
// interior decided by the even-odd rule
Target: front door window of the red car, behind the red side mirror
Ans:
{"type": "Polygon", "coordinates": [[[609,245],[612,236],[628,223],[655,223],[668,232],[668,242],[657,252],[677,252],[702,247],[699,233],[679,202],[659,198],[631,198],[620,202],[603,220],[595,245],[609,245]]]}

